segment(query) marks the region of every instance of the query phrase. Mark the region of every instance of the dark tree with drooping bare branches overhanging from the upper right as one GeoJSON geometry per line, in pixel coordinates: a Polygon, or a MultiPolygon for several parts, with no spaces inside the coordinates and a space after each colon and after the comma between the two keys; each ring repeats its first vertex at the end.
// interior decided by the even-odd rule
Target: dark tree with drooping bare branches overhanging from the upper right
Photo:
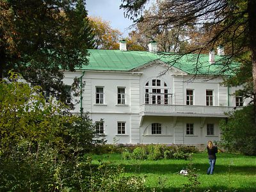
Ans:
{"type": "MultiPolygon", "coordinates": [[[[125,16],[136,19],[141,15],[143,6],[149,0],[122,0],[125,16]]],[[[195,49],[188,52],[202,53],[205,49],[224,45],[230,53],[223,58],[223,65],[233,59],[243,60],[250,53],[250,65],[253,77],[254,119],[256,123],[256,1],[254,0],[163,0],[161,15],[144,18],[157,20],[157,26],[172,24],[172,27],[196,26],[202,29],[208,38],[198,42],[195,49]],[[224,63],[224,61],[225,62],[224,63]]]]}

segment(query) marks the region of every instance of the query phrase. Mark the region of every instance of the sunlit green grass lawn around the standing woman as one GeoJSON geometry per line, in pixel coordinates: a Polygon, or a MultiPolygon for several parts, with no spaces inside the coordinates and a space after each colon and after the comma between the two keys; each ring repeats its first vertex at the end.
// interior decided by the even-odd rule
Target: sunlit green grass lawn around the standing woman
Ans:
{"type": "Polygon", "coordinates": [[[184,188],[188,184],[188,177],[180,175],[189,163],[193,163],[198,175],[199,185],[192,191],[256,191],[256,157],[241,154],[218,154],[214,175],[207,175],[207,154],[193,154],[189,161],[162,159],[158,161],[124,160],[121,154],[93,156],[93,163],[99,159],[121,164],[125,168],[125,175],[140,175],[145,177],[148,191],[191,191],[184,188]]]}

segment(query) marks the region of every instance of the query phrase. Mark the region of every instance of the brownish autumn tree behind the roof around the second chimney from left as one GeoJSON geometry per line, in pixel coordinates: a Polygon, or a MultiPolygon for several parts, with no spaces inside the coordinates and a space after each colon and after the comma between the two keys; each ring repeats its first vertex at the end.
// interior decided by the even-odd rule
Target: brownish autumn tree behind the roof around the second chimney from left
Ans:
{"type": "Polygon", "coordinates": [[[143,20],[134,24],[135,30],[129,34],[144,49],[148,49],[148,42],[156,41],[159,51],[180,52],[186,49],[188,42],[185,41],[189,35],[189,28],[173,28],[172,24],[159,26],[159,20],[149,19],[156,15],[161,15],[164,6],[163,1],[157,1],[143,13],[143,20]]]}

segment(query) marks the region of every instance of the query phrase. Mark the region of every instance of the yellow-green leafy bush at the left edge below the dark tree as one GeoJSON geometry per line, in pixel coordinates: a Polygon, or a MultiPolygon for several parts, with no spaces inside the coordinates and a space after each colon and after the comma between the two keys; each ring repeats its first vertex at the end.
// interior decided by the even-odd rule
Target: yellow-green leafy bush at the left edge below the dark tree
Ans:
{"type": "MultiPolygon", "coordinates": [[[[9,72],[10,81],[0,81],[0,145],[29,141],[52,140],[61,143],[58,134],[67,135],[64,124],[74,122],[72,116],[60,115],[65,105],[56,100],[45,104],[40,86],[31,87],[19,74],[9,72]]],[[[62,145],[62,144],[61,144],[62,145]]]]}

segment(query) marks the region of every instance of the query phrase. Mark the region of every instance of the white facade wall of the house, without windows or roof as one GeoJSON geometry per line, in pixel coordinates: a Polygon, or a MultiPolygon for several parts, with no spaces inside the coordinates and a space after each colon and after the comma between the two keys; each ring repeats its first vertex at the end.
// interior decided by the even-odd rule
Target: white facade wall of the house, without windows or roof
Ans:
{"type": "MultiPolygon", "coordinates": [[[[83,72],[65,72],[64,83],[72,84],[74,77],[83,76],[83,72]]],[[[163,63],[148,63],[144,67],[132,72],[85,71],[83,81],[82,106],[88,111],[93,121],[104,121],[104,134],[107,143],[175,143],[189,145],[203,145],[208,140],[220,140],[219,122],[225,117],[211,115],[211,113],[195,113],[196,108],[206,106],[206,90],[213,92],[214,110],[221,107],[235,107],[236,98],[233,93],[239,88],[228,88],[221,85],[222,79],[205,79],[196,77],[191,81],[188,76],[175,68],[167,68],[163,63]],[[165,73],[161,76],[159,74],[165,73]],[[161,105],[152,108],[160,111],[145,111],[145,89],[156,88],[150,85],[152,79],[161,80],[162,90],[168,90],[169,111],[161,111],[161,105]],[[146,86],[149,82],[148,86],[146,86]],[[96,103],[96,88],[104,90],[103,104],[96,103]],[[125,104],[117,103],[118,88],[125,88],[125,104]],[[186,90],[193,90],[193,107],[191,111],[172,113],[175,106],[186,106],[186,90]],[[229,96],[228,96],[229,93],[229,96]],[[125,134],[118,134],[118,122],[125,123],[125,134]],[[152,134],[152,124],[161,124],[161,133],[152,134]],[[193,124],[193,134],[187,134],[187,124],[193,124]],[[214,124],[214,134],[207,135],[207,124],[214,124]]],[[[164,97],[164,96],[163,96],[164,97]]],[[[77,97],[77,100],[80,98],[77,97]]],[[[152,99],[152,98],[150,98],[152,99]]],[[[244,104],[248,104],[246,100],[244,104]]],[[[79,113],[80,103],[76,105],[74,113],[79,113]]],[[[212,107],[213,108],[213,107],[212,107]]],[[[211,109],[211,107],[207,108],[211,109]]],[[[204,109],[205,110],[205,109],[204,109]]],[[[156,110],[155,110],[156,111],[156,110]]]]}

